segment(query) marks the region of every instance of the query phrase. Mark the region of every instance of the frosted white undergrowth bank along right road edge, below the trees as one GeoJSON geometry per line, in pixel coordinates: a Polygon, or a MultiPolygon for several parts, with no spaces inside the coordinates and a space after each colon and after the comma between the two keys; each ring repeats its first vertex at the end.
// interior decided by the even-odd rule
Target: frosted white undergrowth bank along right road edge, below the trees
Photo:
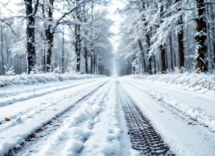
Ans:
{"type": "Polygon", "coordinates": [[[208,74],[164,74],[164,75],[130,75],[130,78],[144,79],[150,82],[158,82],[169,85],[180,85],[191,90],[213,90],[215,91],[215,75],[208,74]]]}

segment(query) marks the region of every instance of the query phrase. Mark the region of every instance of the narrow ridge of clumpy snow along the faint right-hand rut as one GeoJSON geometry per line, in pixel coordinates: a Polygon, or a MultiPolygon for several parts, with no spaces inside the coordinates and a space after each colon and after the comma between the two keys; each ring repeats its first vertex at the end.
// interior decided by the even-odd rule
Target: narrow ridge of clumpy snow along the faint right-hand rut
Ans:
{"type": "Polygon", "coordinates": [[[149,95],[151,95],[153,98],[155,98],[158,101],[164,102],[165,104],[170,105],[173,108],[176,108],[177,110],[187,114],[190,116],[192,119],[198,121],[201,124],[204,124],[207,126],[210,130],[215,131],[215,116],[208,115],[204,110],[202,110],[200,107],[190,107],[183,102],[180,102],[172,97],[169,97],[166,94],[159,94],[156,93],[155,91],[152,91],[148,88],[142,87],[135,85],[132,83],[134,86],[142,89],[149,95]]]}

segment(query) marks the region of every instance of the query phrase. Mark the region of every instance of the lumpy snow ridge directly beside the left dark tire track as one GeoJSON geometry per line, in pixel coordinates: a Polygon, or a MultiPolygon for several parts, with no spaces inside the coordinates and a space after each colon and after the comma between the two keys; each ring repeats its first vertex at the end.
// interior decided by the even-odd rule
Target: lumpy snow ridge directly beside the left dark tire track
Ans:
{"type": "Polygon", "coordinates": [[[93,125],[100,121],[110,83],[97,92],[74,115],[64,121],[64,127],[39,153],[41,156],[75,156],[84,148],[84,142],[91,135],[93,125]]]}

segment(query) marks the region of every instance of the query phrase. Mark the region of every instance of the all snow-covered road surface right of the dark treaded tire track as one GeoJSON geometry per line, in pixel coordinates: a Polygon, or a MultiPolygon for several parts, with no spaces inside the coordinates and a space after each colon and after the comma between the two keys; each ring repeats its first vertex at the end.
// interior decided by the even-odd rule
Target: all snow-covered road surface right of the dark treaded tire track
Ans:
{"type": "Polygon", "coordinates": [[[120,84],[176,155],[214,154],[215,96],[131,78],[120,84]]]}

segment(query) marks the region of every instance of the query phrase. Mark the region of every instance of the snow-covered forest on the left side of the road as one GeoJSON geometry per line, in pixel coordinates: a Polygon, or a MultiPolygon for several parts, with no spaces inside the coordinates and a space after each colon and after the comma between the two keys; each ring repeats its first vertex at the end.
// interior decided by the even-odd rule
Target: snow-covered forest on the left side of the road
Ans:
{"type": "Polygon", "coordinates": [[[103,0],[0,0],[0,75],[110,75],[112,25],[103,0]]]}

